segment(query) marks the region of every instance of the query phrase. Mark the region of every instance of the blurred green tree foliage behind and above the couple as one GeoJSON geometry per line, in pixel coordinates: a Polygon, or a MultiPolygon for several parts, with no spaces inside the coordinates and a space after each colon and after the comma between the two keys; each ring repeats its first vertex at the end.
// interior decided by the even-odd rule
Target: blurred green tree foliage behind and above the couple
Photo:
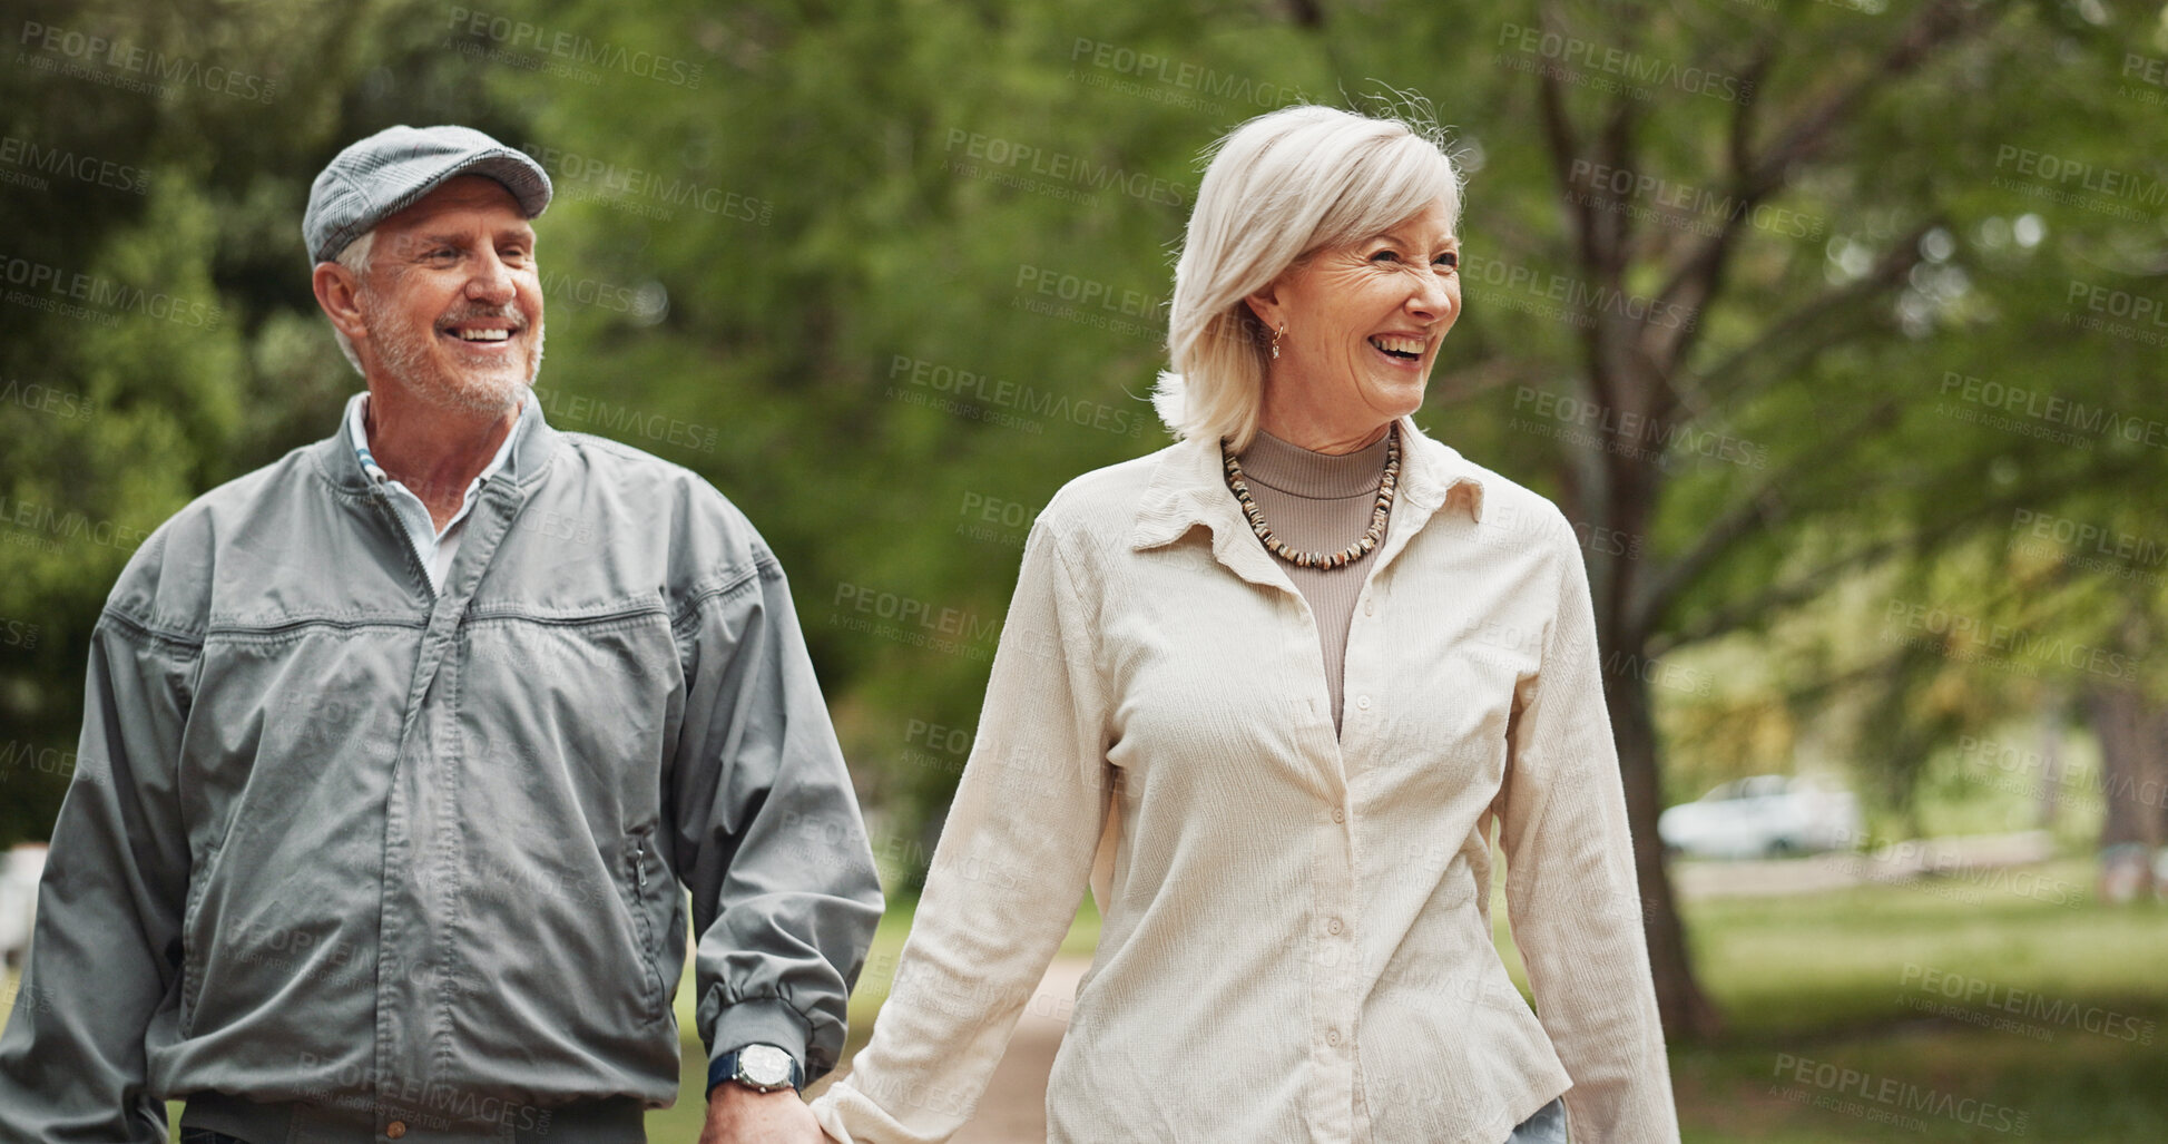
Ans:
{"type": "MultiPolygon", "coordinates": [[[[2008,538],[2010,506],[2155,527],[2161,449],[1984,425],[1951,412],[1977,412],[1977,399],[1945,393],[1958,376],[2153,408],[2157,345],[2081,328],[2090,310],[2073,284],[2164,293],[2159,204],[2057,198],[2060,185],[2021,169],[2023,154],[2057,154],[2153,187],[2168,176],[2133,145],[2157,126],[2142,102],[2157,89],[2118,80],[2127,54],[2168,52],[2146,20],[1999,7],[1977,33],[1875,80],[1912,11],[1546,11],[20,2],[15,35],[43,24],[111,37],[225,67],[256,80],[258,98],[202,82],[137,93],[117,80],[139,72],[65,46],[15,48],[0,72],[7,132],[141,169],[145,191],[0,185],[4,254],[199,304],[217,321],[0,306],[0,380],[93,410],[0,404],[0,495],[9,512],[33,506],[33,521],[50,508],[137,536],[330,432],[358,380],[306,287],[310,178],[386,124],[490,130],[557,178],[540,228],[555,332],[546,410],[559,428],[689,465],[767,534],[861,788],[908,870],[963,762],[924,729],[976,723],[1030,514],[1075,473],[1166,441],[1143,397],[1162,365],[1171,252],[1199,150],[1236,122],[1305,98],[1427,100],[1470,171],[1470,274],[1424,421],[1576,521],[1606,519],[1598,478],[1617,456],[1533,415],[1544,395],[1598,395],[1576,304],[1546,291],[1606,284],[1580,265],[1583,232],[1561,198],[1574,156],[1554,150],[1531,74],[1561,61],[1524,30],[1557,28],[1672,69],[1656,76],[1693,67],[1752,91],[1732,100],[1656,78],[1622,98],[1600,56],[1563,61],[1576,82],[1559,115],[1587,154],[1615,130],[1633,141],[1635,174],[1685,195],[1624,204],[1633,241],[1615,287],[1635,297],[1654,297],[1724,221],[1741,139],[1767,154],[1806,109],[1862,85],[1838,106],[1841,130],[1795,154],[1730,239],[1721,291],[1693,306],[1676,384],[1695,432],[1743,443],[1745,460],[1669,449],[1659,510],[1635,536],[1639,571],[1691,554],[1741,501],[1763,512],[1650,617],[1656,651],[1769,634],[1849,575],[1832,567],[2008,538]],[[2029,82],[2010,85],[2012,67],[2029,82]],[[1860,289],[1877,258],[1917,267],[1860,289]],[[887,632],[867,630],[882,621],[887,632]]],[[[128,543],[59,527],[9,525],[0,545],[0,617],[37,625],[35,647],[0,647],[0,738],[65,753],[85,636],[128,543]]],[[[1986,610],[1995,567],[1949,595],[1986,610]]],[[[2064,580],[2057,606],[2027,623],[2099,630],[2129,603],[2103,603],[2096,577],[2064,580]]],[[[1858,601],[1869,636],[1884,601],[1858,601]]],[[[1741,710],[1810,723],[1834,682],[1864,666],[1799,640],[1741,710]]],[[[1964,669],[1930,653],[1908,688],[1951,671],[1964,669]]],[[[1886,719],[1912,727],[1908,751],[1925,758],[1971,712],[2010,699],[2001,684],[1975,671],[1971,699],[1940,716],[1904,701],[1886,719]]],[[[1656,697],[1665,710],[1691,699],[1656,697]]],[[[1847,710],[1869,719],[1862,703],[1847,710]]],[[[1910,781],[1888,751],[1869,762],[1910,781]]],[[[13,766],[0,836],[37,836],[65,766],[13,766]]]]}

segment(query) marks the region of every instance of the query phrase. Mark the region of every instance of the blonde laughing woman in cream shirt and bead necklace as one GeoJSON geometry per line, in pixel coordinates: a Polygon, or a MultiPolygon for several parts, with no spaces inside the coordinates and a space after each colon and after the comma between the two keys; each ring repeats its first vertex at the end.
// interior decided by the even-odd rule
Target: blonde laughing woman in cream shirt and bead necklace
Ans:
{"type": "Polygon", "coordinates": [[[1056,1142],[1678,1140],[1574,530],[1424,436],[1459,174],[1322,106],[1221,141],[1179,443],[1032,527],[841,1142],[947,1140],[1077,897],[1056,1142]],[[1492,944],[1492,831],[1541,1016],[1492,944]]]}

